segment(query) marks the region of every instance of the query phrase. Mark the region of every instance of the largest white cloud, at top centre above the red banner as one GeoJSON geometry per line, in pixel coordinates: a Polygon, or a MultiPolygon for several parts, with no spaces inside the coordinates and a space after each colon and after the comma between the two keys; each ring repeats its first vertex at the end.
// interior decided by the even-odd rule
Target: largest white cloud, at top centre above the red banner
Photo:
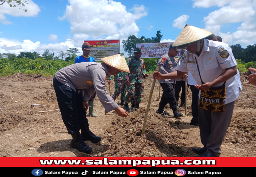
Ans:
{"type": "Polygon", "coordinates": [[[68,2],[64,16],[59,19],[68,20],[74,34],[88,35],[91,39],[122,40],[129,35],[137,36],[139,27],[135,20],[147,15],[144,5],[134,5],[129,12],[121,2],[112,0],[68,2]]]}

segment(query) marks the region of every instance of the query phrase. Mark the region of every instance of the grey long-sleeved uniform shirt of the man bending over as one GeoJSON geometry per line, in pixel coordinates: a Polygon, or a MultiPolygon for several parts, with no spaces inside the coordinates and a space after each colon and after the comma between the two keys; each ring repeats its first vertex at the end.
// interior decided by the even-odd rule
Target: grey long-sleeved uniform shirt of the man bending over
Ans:
{"type": "Polygon", "coordinates": [[[96,91],[101,104],[110,112],[118,108],[118,104],[106,90],[108,71],[108,66],[104,63],[82,62],[60,69],[55,73],[55,78],[75,92],[84,91],[84,101],[89,101],[96,91]]]}

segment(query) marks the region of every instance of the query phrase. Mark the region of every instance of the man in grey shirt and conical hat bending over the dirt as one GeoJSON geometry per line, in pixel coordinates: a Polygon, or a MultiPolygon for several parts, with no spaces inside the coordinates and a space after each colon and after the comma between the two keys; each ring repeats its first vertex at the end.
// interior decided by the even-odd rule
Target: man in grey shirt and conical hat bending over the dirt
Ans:
{"type": "Polygon", "coordinates": [[[71,134],[71,147],[87,154],[92,148],[84,141],[97,143],[101,141],[89,129],[86,118],[88,100],[96,92],[107,112],[115,110],[119,116],[129,114],[120,108],[106,90],[106,76],[124,71],[130,73],[123,54],[102,58],[103,63],[82,62],[60,69],[53,77],[53,87],[56,93],[63,122],[68,134],[71,134]],[[81,129],[81,134],[80,134],[81,129]]]}

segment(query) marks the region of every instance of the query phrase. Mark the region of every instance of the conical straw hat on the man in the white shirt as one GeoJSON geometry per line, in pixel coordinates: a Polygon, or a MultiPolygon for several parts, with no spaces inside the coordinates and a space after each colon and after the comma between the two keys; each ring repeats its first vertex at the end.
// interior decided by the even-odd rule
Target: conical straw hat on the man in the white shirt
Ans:
{"type": "Polygon", "coordinates": [[[191,25],[186,25],[177,37],[176,41],[173,43],[173,47],[182,49],[187,47],[190,43],[196,42],[210,35],[212,35],[212,33],[209,31],[191,25]]]}

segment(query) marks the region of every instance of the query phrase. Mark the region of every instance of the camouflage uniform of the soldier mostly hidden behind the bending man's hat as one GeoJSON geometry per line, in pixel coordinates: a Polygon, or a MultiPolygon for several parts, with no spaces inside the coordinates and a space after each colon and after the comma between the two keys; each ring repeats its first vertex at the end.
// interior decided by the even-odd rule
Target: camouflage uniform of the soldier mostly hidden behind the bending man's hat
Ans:
{"type": "Polygon", "coordinates": [[[123,76],[124,72],[117,73],[114,76],[115,80],[115,92],[112,96],[112,98],[115,100],[121,93],[121,100],[125,99],[125,93],[126,93],[126,83],[124,82],[124,87],[122,87],[122,82],[123,82],[123,76]]]}

